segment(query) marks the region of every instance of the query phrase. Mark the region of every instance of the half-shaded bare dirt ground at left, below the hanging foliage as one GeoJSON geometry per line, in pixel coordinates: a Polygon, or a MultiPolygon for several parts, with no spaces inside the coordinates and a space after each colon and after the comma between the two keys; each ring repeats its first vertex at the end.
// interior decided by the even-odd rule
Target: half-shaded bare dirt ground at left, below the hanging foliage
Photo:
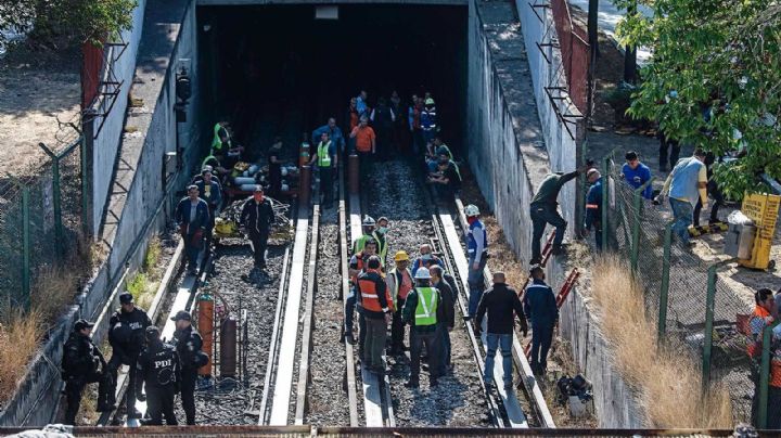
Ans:
{"type": "Polygon", "coordinates": [[[42,158],[38,147],[63,147],[77,138],[63,121],[77,121],[81,86],[78,54],[30,52],[16,47],[0,59],[0,163],[26,175],[42,158]]]}

